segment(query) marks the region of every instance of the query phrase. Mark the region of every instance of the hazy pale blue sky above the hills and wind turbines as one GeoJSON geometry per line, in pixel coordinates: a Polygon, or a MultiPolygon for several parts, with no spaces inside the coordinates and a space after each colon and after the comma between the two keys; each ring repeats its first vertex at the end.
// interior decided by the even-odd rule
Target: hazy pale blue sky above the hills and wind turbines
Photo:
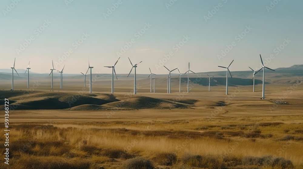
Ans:
{"type": "MultiPolygon", "coordinates": [[[[303,64],[299,0],[2,0],[0,69],[138,74],[303,64]],[[267,64],[268,63],[268,64],[267,64]]],[[[177,72],[175,72],[177,73],[177,72]]]]}

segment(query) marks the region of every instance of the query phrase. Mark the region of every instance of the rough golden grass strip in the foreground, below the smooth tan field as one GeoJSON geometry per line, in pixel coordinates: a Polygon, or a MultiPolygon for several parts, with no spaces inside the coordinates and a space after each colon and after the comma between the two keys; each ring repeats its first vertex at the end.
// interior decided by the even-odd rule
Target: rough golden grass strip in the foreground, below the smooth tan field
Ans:
{"type": "MultiPolygon", "coordinates": [[[[300,168],[303,166],[302,140],[281,139],[303,136],[303,124],[292,123],[293,119],[302,121],[303,116],[126,121],[95,125],[20,123],[13,125],[10,131],[11,160],[14,161],[10,165],[33,168],[24,162],[31,159],[38,161],[33,166],[40,168],[55,165],[54,161],[71,168],[118,168],[127,159],[143,156],[155,166],[172,165],[176,168],[185,164],[228,168],[234,165],[231,161],[238,161],[241,166],[248,157],[271,156],[290,160],[300,168]],[[77,161],[79,159],[81,162],[77,161]],[[72,166],[75,161],[77,163],[72,166]]],[[[3,138],[0,141],[4,141],[3,138]]],[[[0,167],[5,166],[0,164],[0,167]]]]}

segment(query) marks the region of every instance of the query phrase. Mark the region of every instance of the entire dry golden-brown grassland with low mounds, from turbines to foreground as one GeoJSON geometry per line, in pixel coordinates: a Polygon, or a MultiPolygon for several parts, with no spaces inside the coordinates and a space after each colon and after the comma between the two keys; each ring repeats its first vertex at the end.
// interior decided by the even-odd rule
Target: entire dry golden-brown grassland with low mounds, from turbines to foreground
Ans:
{"type": "MultiPolygon", "coordinates": [[[[172,94],[160,82],[157,93],[147,81],[137,95],[115,85],[115,94],[72,86],[0,91],[15,109],[10,164],[0,168],[303,168],[300,84],[267,84],[268,100],[260,100],[261,84],[255,93],[250,85],[229,87],[229,95],[225,86],[200,85],[180,94],[178,81],[172,94]]],[[[125,85],[131,91],[132,81],[125,85]]]]}

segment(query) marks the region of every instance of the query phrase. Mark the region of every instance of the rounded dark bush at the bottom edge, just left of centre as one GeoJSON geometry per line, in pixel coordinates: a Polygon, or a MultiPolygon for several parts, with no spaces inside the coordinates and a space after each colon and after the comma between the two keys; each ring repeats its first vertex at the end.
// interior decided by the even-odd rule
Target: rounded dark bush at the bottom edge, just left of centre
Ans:
{"type": "Polygon", "coordinates": [[[136,157],[126,160],[120,169],[154,169],[152,162],[143,157],[136,157]]]}

